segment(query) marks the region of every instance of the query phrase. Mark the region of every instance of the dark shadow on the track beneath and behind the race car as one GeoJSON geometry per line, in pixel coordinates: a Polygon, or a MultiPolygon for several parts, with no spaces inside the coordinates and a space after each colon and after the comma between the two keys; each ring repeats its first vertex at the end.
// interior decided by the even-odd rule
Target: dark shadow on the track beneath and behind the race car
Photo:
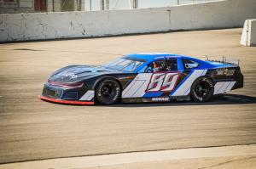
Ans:
{"type": "MultiPolygon", "coordinates": [[[[172,101],[162,103],[119,103],[108,105],[108,107],[154,107],[154,106],[186,106],[186,105],[217,105],[217,104],[254,104],[256,103],[256,97],[245,96],[240,94],[218,94],[212,97],[207,102],[195,102],[195,101],[172,101]]],[[[104,106],[99,105],[97,106],[104,106]]],[[[105,105],[106,106],[106,105],[105,105]]]]}

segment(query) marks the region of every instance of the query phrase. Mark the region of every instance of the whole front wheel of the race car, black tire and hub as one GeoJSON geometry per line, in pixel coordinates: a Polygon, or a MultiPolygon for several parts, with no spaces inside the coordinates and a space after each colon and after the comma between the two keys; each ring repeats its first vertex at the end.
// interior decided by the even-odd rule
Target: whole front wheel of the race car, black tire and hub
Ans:
{"type": "Polygon", "coordinates": [[[96,86],[96,102],[99,104],[115,104],[121,97],[119,82],[112,78],[102,80],[96,86]]]}

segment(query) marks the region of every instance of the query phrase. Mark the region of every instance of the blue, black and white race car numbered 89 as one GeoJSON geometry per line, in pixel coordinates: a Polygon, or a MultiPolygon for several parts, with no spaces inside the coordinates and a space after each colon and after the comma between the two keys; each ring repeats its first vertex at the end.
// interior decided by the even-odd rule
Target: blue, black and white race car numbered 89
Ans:
{"type": "Polygon", "coordinates": [[[107,65],[69,65],[44,84],[40,99],[61,104],[206,102],[243,87],[240,66],[179,54],[128,54],[107,65]]]}

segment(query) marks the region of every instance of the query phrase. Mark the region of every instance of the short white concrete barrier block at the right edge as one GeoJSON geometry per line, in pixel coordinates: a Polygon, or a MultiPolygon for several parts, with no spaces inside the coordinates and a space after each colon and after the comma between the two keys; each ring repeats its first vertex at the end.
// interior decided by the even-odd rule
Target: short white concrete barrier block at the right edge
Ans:
{"type": "Polygon", "coordinates": [[[244,22],[240,43],[244,46],[256,46],[256,20],[244,22]]]}

